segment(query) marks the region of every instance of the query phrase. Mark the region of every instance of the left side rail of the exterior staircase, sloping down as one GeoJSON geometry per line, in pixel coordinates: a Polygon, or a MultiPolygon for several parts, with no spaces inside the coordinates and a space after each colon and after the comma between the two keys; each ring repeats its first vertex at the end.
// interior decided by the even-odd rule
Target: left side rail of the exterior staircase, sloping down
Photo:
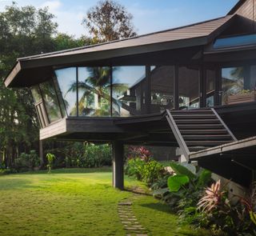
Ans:
{"type": "Polygon", "coordinates": [[[184,141],[184,138],[182,138],[181,132],[178,130],[178,126],[176,125],[176,122],[174,121],[174,118],[172,114],[170,114],[170,110],[166,110],[166,119],[169,122],[170,129],[173,131],[174,136],[178,142],[178,146],[182,150],[182,153],[185,155],[186,159],[189,159],[190,156],[190,150],[186,146],[186,142],[184,141]]]}

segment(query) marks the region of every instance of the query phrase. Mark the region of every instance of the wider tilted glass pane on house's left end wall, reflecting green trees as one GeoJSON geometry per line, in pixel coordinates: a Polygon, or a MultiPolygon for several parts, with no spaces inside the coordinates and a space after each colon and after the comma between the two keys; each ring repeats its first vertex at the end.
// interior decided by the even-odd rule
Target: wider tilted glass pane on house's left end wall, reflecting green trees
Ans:
{"type": "Polygon", "coordinates": [[[42,98],[46,106],[46,112],[50,123],[62,118],[56,90],[54,88],[54,82],[52,80],[43,82],[40,84],[40,89],[42,91],[42,98]]]}

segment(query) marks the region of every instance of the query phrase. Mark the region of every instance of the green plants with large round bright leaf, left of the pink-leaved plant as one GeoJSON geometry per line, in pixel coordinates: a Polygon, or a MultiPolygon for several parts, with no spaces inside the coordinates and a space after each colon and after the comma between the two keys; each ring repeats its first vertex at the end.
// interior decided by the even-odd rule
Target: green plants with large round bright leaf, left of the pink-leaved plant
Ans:
{"type": "Polygon", "coordinates": [[[197,204],[204,187],[212,182],[210,171],[197,171],[195,166],[188,163],[170,162],[170,166],[174,174],[153,184],[154,196],[166,202],[178,214],[182,224],[202,226],[200,224],[205,218],[198,212],[197,204]]]}

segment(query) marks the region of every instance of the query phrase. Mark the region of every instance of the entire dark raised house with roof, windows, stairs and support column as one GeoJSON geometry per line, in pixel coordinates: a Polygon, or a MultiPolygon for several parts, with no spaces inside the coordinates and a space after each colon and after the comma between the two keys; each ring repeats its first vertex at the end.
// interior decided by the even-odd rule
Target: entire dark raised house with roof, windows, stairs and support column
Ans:
{"type": "Polygon", "coordinates": [[[255,16],[256,0],[241,0],[222,18],[18,58],[5,84],[31,87],[41,139],[112,142],[118,188],[123,145],[141,143],[179,146],[188,160],[248,186],[256,168],[255,16]]]}

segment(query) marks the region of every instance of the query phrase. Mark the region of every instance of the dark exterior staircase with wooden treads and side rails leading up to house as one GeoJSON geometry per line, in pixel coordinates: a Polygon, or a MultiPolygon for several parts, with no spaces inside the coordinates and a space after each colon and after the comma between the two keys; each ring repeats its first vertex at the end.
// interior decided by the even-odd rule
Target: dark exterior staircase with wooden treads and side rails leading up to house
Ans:
{"type": "Polygon", "coordinates": [[[214,108],[204,110],[166,110],[166,118],[182,154],[237,141],[214,108]]]}

